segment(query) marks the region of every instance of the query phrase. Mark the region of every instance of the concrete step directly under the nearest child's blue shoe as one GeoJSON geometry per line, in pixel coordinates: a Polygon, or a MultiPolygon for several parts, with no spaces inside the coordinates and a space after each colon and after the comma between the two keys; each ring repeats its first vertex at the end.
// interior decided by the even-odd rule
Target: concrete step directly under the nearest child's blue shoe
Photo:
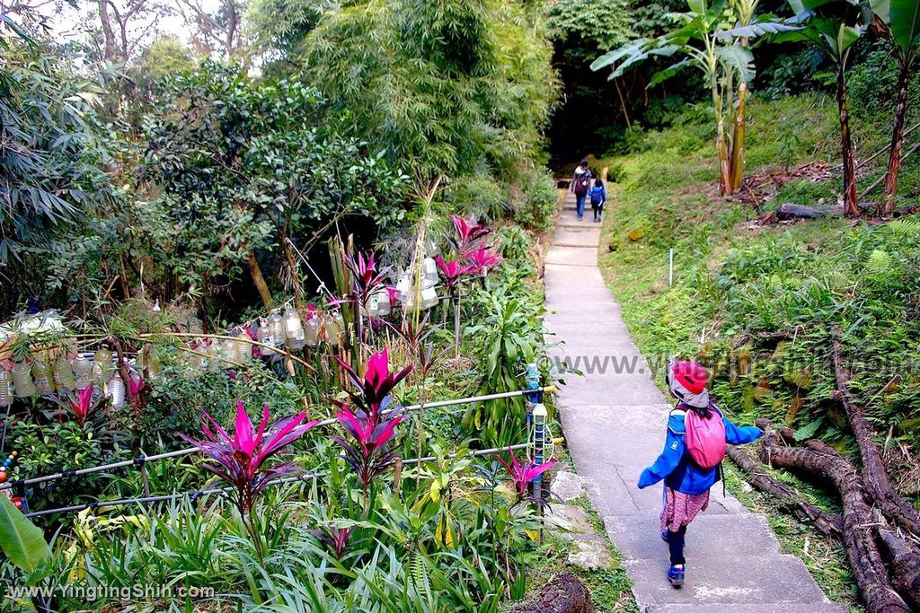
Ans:
{"type": "MultiPolygon", "coordinates": [[[[743,543],[738,543],[743,547],[743,543]]],[[[666,558],[624,562],[641,610],[650,606],[820,605],[827,602],[808,569],[791,555],[710,558],[687,561],[686,583],[674,589],[665,579],[666,558]]],[[[735,609],[730,609],[735,610],[735,609]]],[[[786,610],[780,608],[778,610],[786,610]]]]}

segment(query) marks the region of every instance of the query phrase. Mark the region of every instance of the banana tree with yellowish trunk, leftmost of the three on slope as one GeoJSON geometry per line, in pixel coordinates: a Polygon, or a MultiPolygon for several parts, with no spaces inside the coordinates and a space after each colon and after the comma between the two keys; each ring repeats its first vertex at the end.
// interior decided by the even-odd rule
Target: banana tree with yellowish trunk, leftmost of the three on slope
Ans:
{"type": "Polygon", "coordinates": [[[744,165],[744,112],[747,85],[753,78],[753,55],[749,40],[784,32],[794,24],[771,16],[755,17],[757,0],[688,0],[689,10],[672,14],[680,28],[657,39],[638,39],[610,51],[592,63],[598,71],[614,66],[610,79],[625,74],[651,57],[684,56],[654,74],[649,87],[660,84],[691,66],[703,73],[712,96],[719,156],[719,187],[731,194],[741,186],[744,165]]]}

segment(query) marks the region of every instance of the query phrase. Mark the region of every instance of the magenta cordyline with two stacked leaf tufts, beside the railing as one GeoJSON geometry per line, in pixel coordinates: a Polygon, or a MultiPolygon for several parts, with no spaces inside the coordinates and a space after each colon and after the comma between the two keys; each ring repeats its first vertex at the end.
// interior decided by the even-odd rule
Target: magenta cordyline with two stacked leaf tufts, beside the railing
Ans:
{"type": "Polygon", "coordinates": [[[336,358],[339,366],[348,374],[355,391],[350,391],[354,408],[339,400],[332,402],[339,406],[336,418],[346,437],[332,437],[345,451],[345,460],[358,475],[362,490],[367,494],[374,478],[383,473],[396,457],[390,451],[389,443],[396,437],[396,427],[403,420],[402,407],[389,408],[390,393],[399,381],[412,371],[411,365],[390,372],[389,358],[384,349],[368,360],[364,376],[359,375],[349,364],[336,358]]]}

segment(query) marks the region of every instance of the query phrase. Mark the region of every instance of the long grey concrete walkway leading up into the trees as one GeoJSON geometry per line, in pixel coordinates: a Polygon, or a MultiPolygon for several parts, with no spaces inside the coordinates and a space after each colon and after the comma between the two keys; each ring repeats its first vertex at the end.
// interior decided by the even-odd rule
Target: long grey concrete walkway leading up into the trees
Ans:
{"type": "MultiPolygon", "coordinates": [[[[633,345],[620,306],[597,267],[600,223],[576,221],[569,195],[546,256],[546,328],[564,341],[552,358],[581,360],[584,377],[564,376],[560,414],[572,459],[592,505],[623,553],[642,611],[661,613],[829,613],[798,558],[779,551],[763,516],[721,486],[687,532],[684,589],[668,585],[667,545],[659,535],[661,486],[639,490],[638,475],[664,441],[671,403],[633,345]]],[[[609,213],[608,213],[609,214],[609,213]]]]}

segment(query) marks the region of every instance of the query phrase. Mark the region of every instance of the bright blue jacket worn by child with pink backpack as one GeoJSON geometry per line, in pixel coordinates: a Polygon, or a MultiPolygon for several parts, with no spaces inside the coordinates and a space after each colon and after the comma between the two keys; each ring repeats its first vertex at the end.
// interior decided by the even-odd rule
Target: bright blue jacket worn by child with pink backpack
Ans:
{"type": "MultiPolygon", "coordinates": [[[[722,415],[718,408],[716,411],[722,415]]],[[[671,489],[692,496],[703,494],[719,481],[719,467],[704,469],[690,460],[690,454],[686,452],[685,415],[686,413],[679,409],[671,412],[664,450],[661,451],[658,460],[639,475],[640,489],[663,479],[664,484],[671,489]]],[[[731,445],[751,443],[764,435],[757,426],[735,426],[725,415],[722,415],[722,423],[725,425],[725,442],[731,445]]]]}

